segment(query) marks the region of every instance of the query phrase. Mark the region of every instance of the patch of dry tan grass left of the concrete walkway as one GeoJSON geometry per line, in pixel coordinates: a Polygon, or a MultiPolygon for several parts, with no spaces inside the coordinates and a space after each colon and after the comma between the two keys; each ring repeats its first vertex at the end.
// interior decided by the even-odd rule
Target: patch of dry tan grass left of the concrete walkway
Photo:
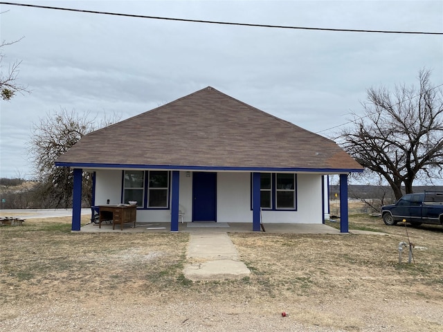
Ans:
{"type": "Polygon", "coordinates": [[[69,218],[55,220],[1,229],[3,303],[152,293],[181,278],[186,233],[75,234],[69,218]]]}

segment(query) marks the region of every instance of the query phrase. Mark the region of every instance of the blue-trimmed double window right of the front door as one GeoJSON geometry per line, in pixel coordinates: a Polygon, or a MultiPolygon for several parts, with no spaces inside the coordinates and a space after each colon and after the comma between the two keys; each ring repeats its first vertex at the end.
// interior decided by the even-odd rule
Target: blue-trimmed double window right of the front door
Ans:
{"type": "Polygon", "coordinates": [[[263,210],[296,210],[296,181],[296,174],[260,173],[260,207],[263,210]]]}

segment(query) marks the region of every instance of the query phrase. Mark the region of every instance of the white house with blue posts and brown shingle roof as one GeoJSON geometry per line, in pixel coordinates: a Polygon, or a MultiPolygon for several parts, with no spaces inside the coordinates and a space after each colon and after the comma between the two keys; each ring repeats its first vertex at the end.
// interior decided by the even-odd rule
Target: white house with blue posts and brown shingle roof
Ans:
{"type": "Polygon", "coordinates": [[[55,165],[74,169],[72,229],[80,230],[82,172],[95,205],[137,201],[137,221],[323,223],[328,174],[362,172],[335,142],[208,86],[84,136],[55,165]],[[262,210],[262,212],[260,211],[262,210]]]}

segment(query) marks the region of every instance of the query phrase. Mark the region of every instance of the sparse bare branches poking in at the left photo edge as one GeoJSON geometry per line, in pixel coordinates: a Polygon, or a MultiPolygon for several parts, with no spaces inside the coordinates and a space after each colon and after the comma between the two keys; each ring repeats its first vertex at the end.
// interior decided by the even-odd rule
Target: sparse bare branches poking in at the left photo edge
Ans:
{"type": "Polygon", "coordinates": [[[0,95],[1,99],[3,100],[10,100],[15,93],[24,93],[28,91],[28,87],[24,86],[22,84],[19,84],[17,82],[17,77],[19,75],[19,66],[21,64],[21,61],[15,61],[14,63],[10,64],[8,71],[3,71],[3,59],[5,57],[4,53],[2,52],[2,49],[4,46],[15,44],[24,37],[21,37],[18,40],[15,40],[14,42],[6,42],[6,40],[3,40],[0,44],[0,95]]]}

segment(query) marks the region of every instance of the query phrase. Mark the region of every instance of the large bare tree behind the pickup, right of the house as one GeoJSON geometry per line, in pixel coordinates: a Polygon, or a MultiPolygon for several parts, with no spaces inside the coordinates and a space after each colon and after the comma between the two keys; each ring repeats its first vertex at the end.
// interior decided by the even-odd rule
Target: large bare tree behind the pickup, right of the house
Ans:
{"type": "Polygon", "coordinates": [[[443,91],[433,87],[431,71],[422,69],[419,86],[368,89],[363,117],[341,131],[342,147],[363,167],[392,187],[395,197],[413,192],[413,182],[433,183],[443,171],[443,91]]]}

